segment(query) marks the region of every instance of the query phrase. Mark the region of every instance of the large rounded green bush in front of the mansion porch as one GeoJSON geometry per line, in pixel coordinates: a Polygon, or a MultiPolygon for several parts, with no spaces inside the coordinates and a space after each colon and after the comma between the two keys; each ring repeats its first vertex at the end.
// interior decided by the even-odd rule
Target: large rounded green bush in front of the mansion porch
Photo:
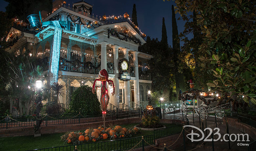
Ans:
{"type": "Polygon", "coordinates": [[[84,85],[73,92],[70,101],[70,112],[80,112],[82,115],[98,115],[101,113],[98,96],[92,93],[91,87],[84,85]]]}

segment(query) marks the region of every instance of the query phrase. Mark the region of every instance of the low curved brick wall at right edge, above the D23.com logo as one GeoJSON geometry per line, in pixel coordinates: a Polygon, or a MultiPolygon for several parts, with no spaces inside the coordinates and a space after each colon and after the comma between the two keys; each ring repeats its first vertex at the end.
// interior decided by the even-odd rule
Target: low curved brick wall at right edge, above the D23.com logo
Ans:
{"type": "MultiPolygon", "coordinates": [[[[225,122],[225,118],[223,118],[223,123],[225,122]]],[[[227,122],[229,127],[236,128],[241,132],[248,134],[253,140],[256,140],[256,128],[244,123],[239,123],[237,118],[227,117],[227,122]]]]}

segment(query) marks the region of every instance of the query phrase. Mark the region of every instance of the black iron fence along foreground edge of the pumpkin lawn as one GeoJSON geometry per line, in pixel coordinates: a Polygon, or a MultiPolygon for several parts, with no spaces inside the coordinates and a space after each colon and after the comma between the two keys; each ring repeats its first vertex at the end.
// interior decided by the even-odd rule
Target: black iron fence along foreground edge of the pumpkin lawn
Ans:
{"type": "MultiPolygon", "coordinates": [[[[130,114],[134,115],[134,114],[130,114]]],[[[137,116],[137,115],[135,115],[137,116]]],[[[111,141],[104,141],[104,142],[94,142],[94,143],[83,143],[83,144],[76,144],[76,145],[66,145],[66,146],[58,146],[58,147],[49,147],[49,148],[41,148],[41,149],[34,149],[28,151],[121,151],[121,150],[129,150],[131,148],[142,147],[146,145],[153,145],[155,143],[155,139],[169,136],[176,133],[181,133],[182,128],[185,125],[189,125],[188,119],[186,115],[182,114],[175,114],[174,116],[167,116],[168,119],[185,119],[184,123],[160,128],[154,130],[152,135],[146,135],[142,137],[133,137],[133,138],[126,138],[126,139],[118,139],[118,140],[111,140],[111,141]],[[183,116],[183,117],[182,117],[183,116]]]]}

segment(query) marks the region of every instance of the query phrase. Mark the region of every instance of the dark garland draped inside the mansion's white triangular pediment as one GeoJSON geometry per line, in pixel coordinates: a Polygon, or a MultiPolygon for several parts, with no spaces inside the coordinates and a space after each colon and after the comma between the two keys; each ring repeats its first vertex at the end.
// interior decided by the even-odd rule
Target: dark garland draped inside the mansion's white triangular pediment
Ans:
{"type": "Polygon", "coordinates": [[[140,40],[138,38],[136,38],[135,36],[133,36],[132,34],[118,32],[115,28],[114,29],[109,28],[108,29],[108,38],[110,37],[110,34],[111,34],[111,36],[117,37],[119,40],[124,40],[124,41],[130,40],[136,44],[141,45],[140,40]],[[121,38],[120,35],[124,36],[124,38],[121,38]]]}

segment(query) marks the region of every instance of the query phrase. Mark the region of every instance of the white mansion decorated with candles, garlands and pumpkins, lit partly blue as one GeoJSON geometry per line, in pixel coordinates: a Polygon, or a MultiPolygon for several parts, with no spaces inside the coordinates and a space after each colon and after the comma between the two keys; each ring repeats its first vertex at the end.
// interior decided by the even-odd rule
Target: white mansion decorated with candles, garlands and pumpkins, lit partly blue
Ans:
{"type": "MultiPolygon", "coordinates": [[[[59,97],[58,103],[69,104],[76,88],[92,86],[99,70],[106,69],[116,87],[109,106],[139,107],[147,101],[152,83],[148,66],[152,56],[138,52],[139,45],[146,43],[145,34],[127,16],[95,17],[92,8],[84,1],[70,6],[55,0],[51,14],[41,13],[40,32],[29,30],[29,25],[11,28],[6,40],[15,38],[15,42],[7,51],[22,55],[29,50],[31,55],[42,58],[50,71],[58,57],[57,82],[65,85],[65,95],[59,97]],[[61,28],[53,21],[59,21],[61,28]],[[56,30],[61,30],[61,35],[56,30]],[[55,55],[55,48],[60,48],[59,56],[55,55]],[[123,61],[127,65],[123,66],[123,61]]],[[[100,96],[100,88],[97,95],[100,96]]]]}

